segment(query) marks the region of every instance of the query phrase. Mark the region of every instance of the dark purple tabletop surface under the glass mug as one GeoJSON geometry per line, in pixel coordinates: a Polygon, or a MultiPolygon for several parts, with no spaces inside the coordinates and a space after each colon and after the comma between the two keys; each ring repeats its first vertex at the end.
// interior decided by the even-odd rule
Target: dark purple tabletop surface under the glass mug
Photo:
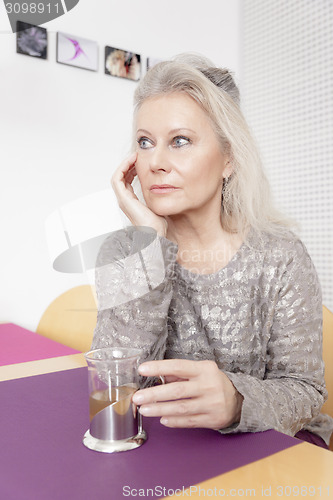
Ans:
{"type": "Polygon", "coordinates": [[[120,500],[132,488],[160,487],[150,495],[157,498],[299,443],[275,431],[223,436],[145,418],[142,447],[111,455],[88,450],[87,368],[1,382],[0,401],[6,500],[120,500]]]}

